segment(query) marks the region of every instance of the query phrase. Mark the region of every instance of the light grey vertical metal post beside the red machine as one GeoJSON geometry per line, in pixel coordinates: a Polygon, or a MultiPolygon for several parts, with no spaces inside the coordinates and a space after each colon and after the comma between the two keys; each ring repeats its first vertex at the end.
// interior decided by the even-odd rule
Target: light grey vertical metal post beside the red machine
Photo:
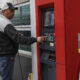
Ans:
{"type": "MultiPolygon", "coordinates": [[[[35,0],[30,1],[31,9],[31,34],[33,37],[36,37],[36,11],[35,11],[35,0]]],[[[38,80],[38,67],[37,67],[37,45],[34,43],[32,45],[32,73],[33,80],[38,80]]]]}

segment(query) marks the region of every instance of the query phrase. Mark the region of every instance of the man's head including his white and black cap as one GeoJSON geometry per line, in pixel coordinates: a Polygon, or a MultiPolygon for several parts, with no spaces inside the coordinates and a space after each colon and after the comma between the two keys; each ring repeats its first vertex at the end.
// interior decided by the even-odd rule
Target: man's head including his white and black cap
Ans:
{"type": "Polygon", "coordinates": [[[2,14],[6,16],[8,19],[12,19],[14,17],[15,10],[17,8],[12,5],[12,3],[6,3],[1,8],[2,14]]]}

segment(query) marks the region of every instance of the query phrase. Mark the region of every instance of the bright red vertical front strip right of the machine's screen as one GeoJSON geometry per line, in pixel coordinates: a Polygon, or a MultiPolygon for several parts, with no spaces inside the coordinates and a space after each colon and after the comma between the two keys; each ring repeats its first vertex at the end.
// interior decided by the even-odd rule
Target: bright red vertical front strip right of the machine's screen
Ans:
{"type": "Polygon", "coordinates": [[[56,80],[67,80],[64,0],[55,0],[56,80]]]}

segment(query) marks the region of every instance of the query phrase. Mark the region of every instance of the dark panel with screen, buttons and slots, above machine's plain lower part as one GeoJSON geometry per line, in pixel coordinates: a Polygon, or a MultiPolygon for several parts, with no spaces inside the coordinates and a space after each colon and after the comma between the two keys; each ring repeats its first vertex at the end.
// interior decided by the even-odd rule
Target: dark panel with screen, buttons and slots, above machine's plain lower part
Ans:
{"type": "Polygon", "coordinates": [[[41,62],[45,60],[55,61],[55,25],[54,8],[42,10],[41,36],[47,36],[45,41],[40,44],[41,62]]]}

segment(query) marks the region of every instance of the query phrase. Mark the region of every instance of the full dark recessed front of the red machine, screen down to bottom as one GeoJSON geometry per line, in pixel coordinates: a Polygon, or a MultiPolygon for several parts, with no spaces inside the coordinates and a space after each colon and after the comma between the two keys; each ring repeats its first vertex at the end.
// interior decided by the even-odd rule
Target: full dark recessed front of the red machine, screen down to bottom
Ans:
{"type": "Polygon", "coordinates": [[[41,36],[47,36],[40,44],[41,80],[56,80],[54,8],[42,9],[41,36]]]}

